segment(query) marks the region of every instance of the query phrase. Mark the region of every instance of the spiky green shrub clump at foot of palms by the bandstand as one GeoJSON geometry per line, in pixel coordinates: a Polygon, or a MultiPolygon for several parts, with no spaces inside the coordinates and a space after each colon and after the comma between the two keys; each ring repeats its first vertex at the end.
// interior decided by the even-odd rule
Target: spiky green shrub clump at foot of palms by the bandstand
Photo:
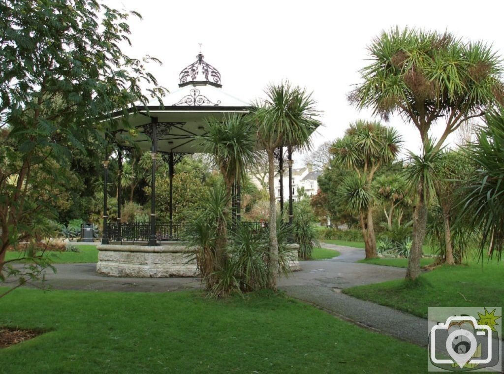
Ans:
{"type": "MultiPolygon", "coordinates": [[[[214,186],[214,189],[221,187],[214,186]]],[[[220,199],[220,192],[212,191],[204,202],[207,210],[189,225],[188,241],[195,247],[192,259],[196,259],[202,281],[210,297],[222,297],[231,292],[248,292],[268,286],[268,228],[256,231],[251,226],[235,225],[227,232],[227,240],[218,235],[216,217],[228,219],[225,212],[226,201],[220,199]],[[218,258],[217,245],[225,242],[224,259],[218,258]]],[[[229,226],[228,226],[229,227],[229,226]]],[[[286,225],[277,225],[278,255],[280,271],[290,270],[287,237],[290,231],[286,225]]]]}

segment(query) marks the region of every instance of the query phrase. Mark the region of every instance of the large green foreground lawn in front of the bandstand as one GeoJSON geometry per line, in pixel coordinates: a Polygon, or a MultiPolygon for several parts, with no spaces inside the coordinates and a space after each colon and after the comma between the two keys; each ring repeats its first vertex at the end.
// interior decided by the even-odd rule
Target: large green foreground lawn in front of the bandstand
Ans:
{"type": "Polygon", "coordinates": [[[425,348],[271,293],[43,292],[2,298],[0,326],[49,332],[0,351],[0,372],[408,372],[425,348]]]}

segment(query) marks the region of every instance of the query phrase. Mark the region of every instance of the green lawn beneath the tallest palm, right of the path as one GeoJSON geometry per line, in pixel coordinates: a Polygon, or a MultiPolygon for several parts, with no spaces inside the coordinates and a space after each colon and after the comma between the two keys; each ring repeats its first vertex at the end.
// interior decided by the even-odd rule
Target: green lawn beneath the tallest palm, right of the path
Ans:
{"type": "Polygon", "coordinates": [[[504,305],[504,264],[442,266],[426,272],[417,282],[395,280],[343,290],[349,295],[392,306],[420,317],[429,306],[501,306],[504,305]]]}

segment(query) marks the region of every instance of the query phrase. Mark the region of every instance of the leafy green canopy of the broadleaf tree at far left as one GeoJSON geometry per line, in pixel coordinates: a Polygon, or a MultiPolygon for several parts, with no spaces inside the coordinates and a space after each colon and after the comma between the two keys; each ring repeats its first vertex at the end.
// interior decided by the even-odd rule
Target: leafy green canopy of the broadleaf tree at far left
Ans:
{"type": "Polygon", "coordinates": [[[166,90],[146,70],[158,60],[131,58],[120,48],[130,42],[127,21],[140,17],[136,12],[94,0],[6,0],[0,14],[2,264],[17,228],[30,227],[46,205],[27,195],[34,168],[66,165],[90,142],[104,144],[112,112],[145,104],[148,96],[160,99],[166,90]]]}

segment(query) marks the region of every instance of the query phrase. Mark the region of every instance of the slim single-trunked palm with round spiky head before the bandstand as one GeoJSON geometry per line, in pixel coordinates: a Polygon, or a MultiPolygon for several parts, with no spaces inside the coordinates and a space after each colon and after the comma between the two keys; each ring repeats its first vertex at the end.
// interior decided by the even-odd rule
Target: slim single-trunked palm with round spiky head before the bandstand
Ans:
{"type": "Polygon", "coordinates": [[[257,104],[254,115],[259,144],[268,156],[268,188],[270,194],[270,252],[269,287],[277,288],[278,278],[278,238],[275,199],[275,156],[279,147],[309,149],[309,137],[320,126],[316,119],[319,111],[316,101],[305,89],[292,86],[288,81],[270,85],[265,90],[266,98],[257,104]]]}

